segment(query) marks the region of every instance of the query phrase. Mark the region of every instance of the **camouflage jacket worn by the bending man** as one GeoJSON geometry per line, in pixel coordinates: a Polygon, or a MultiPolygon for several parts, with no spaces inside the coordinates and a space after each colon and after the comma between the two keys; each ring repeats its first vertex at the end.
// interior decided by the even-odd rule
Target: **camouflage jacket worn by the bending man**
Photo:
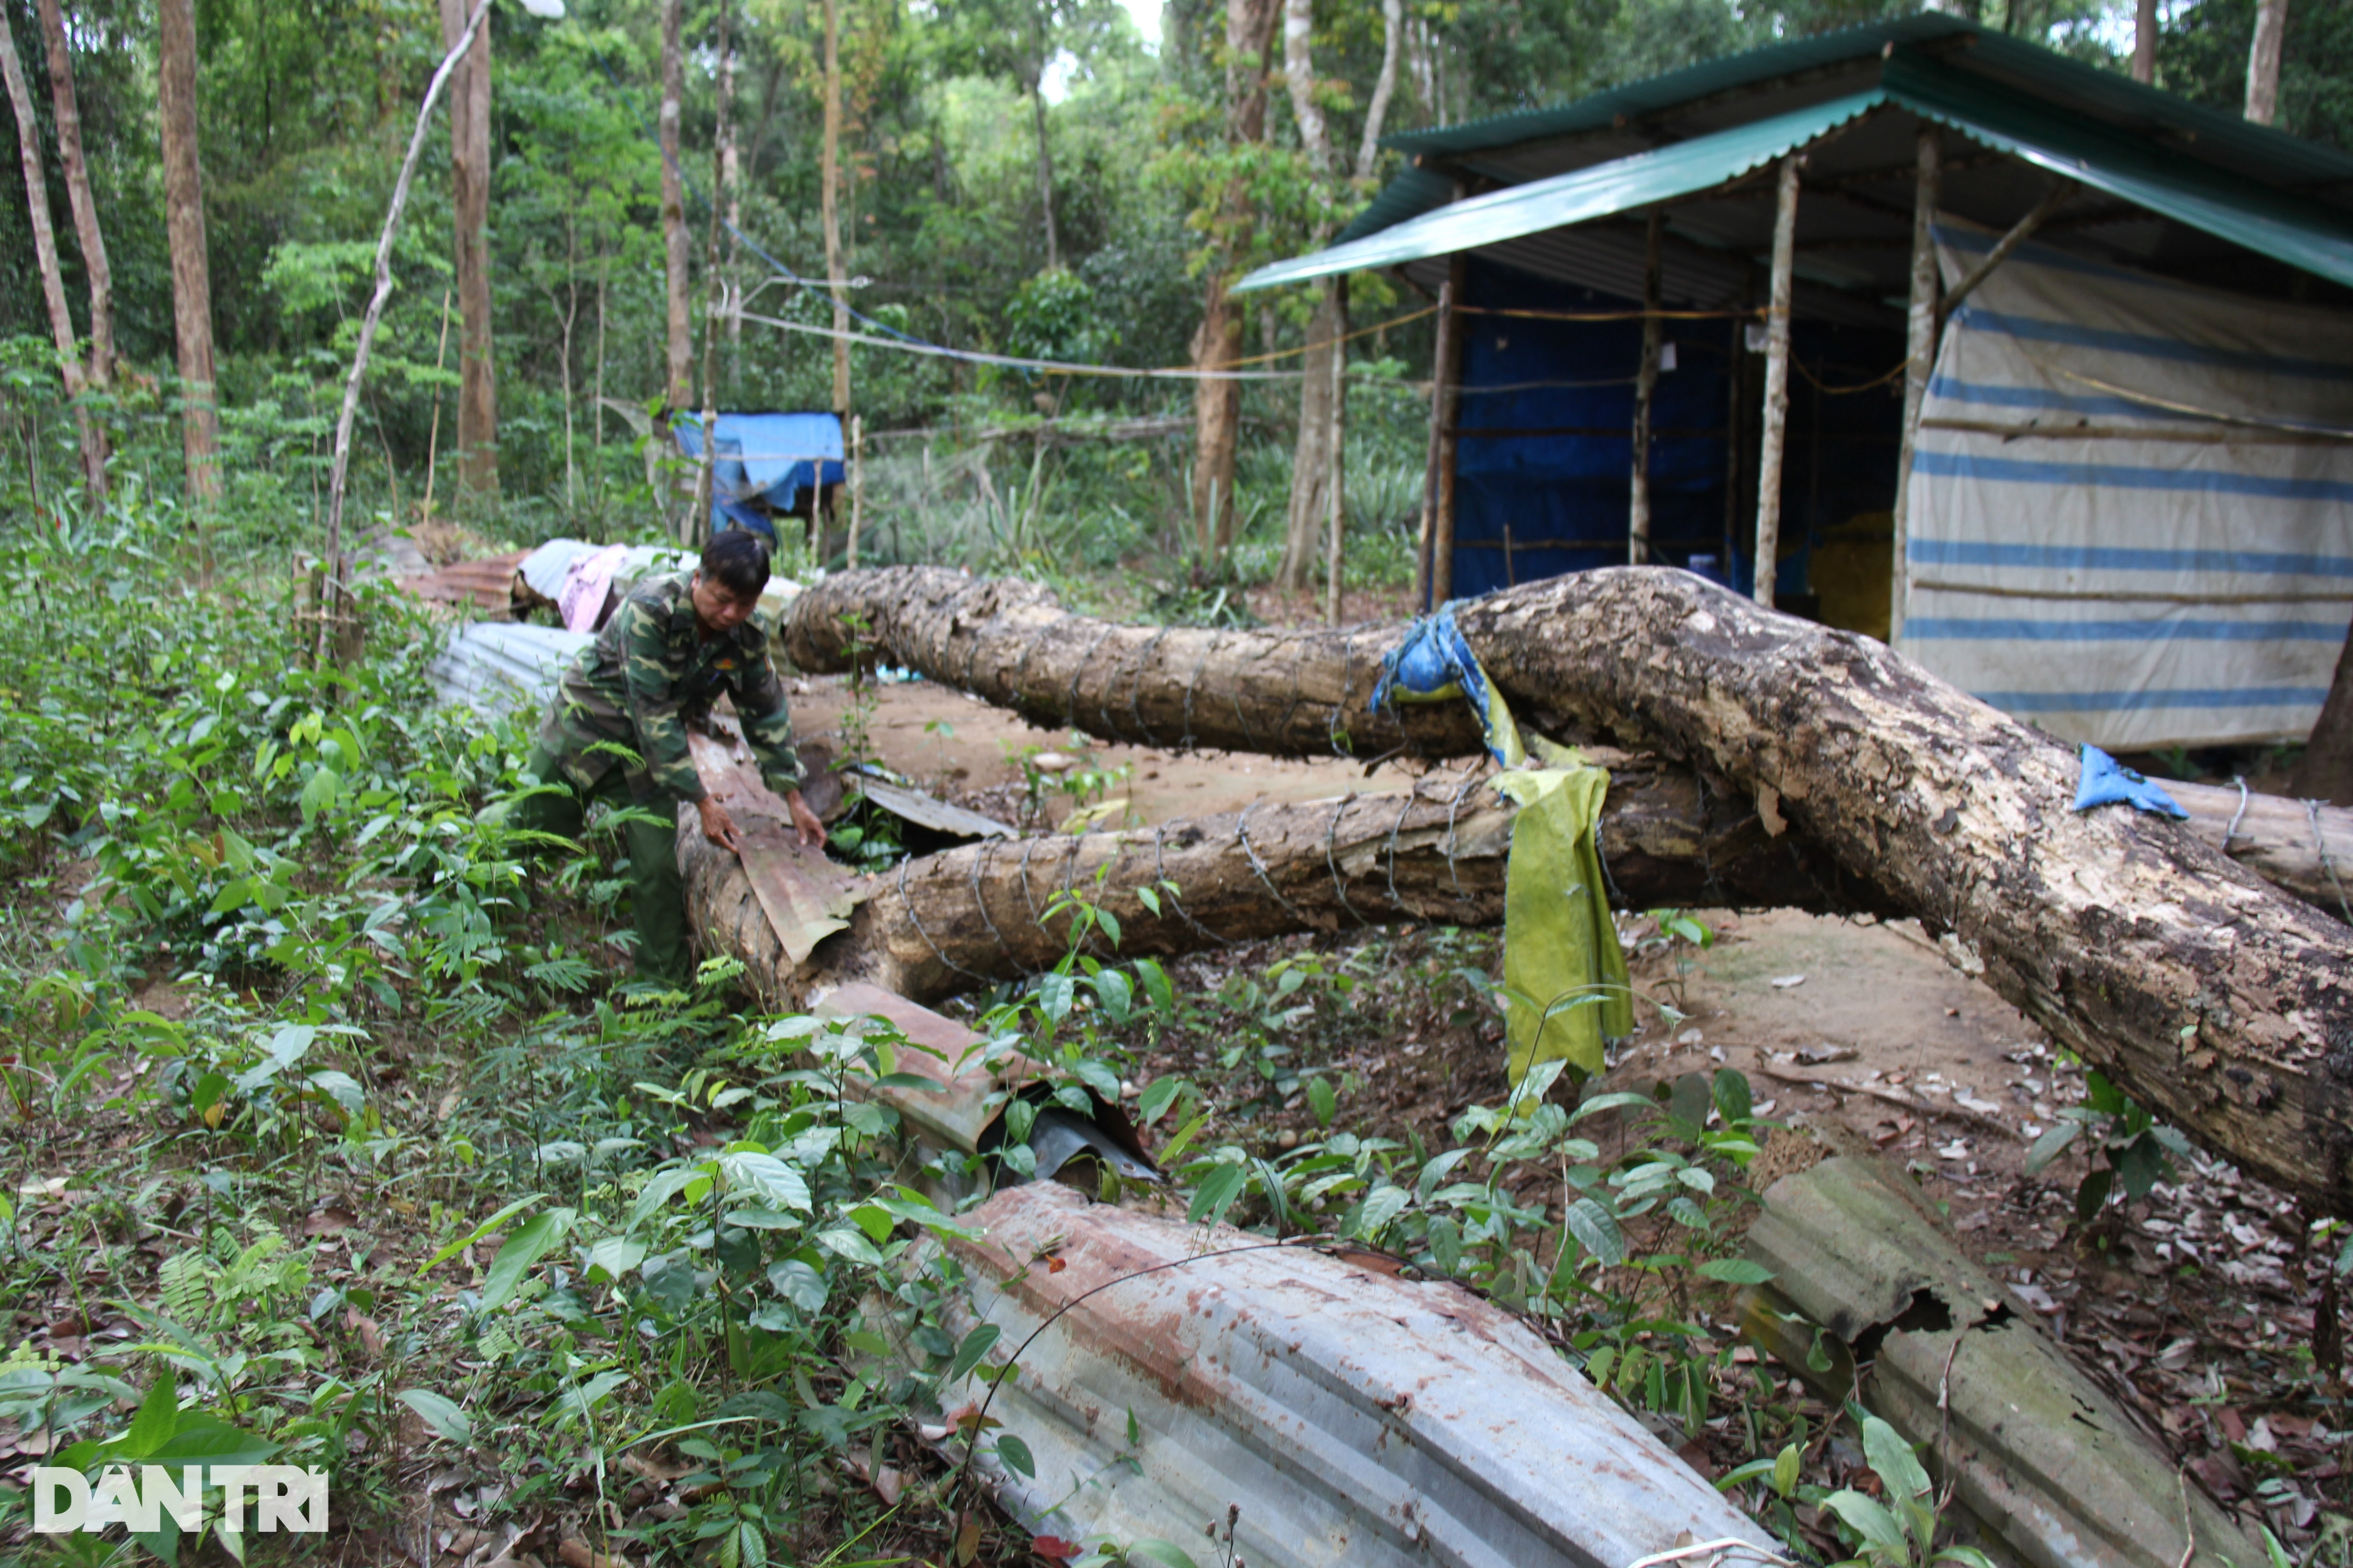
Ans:
{"type": "Polygon", "coordinates": [[[640,802],[701,799],[687,726],[699,724],[722,691],[734,698],[767,788],[776,795],[800,788],[793,715],[767,656],[767,628],[755,616],[732,632],[701,637],[692,581],[692,571],[678,571],[638,583],[565,670],[539,743],[581,790],[619,766],[640,802]]]}

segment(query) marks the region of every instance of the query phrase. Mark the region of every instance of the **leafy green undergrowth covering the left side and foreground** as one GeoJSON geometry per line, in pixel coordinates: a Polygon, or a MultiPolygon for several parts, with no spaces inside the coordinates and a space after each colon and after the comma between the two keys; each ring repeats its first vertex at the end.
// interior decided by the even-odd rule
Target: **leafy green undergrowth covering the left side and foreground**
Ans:
{"type": "MultiPolygon", "coordinates": [[[[915,1436],[991,1349],[941,1328],[918,1267],[967,1229],[981,1157],[920,1164],[873,1098],[915,1046],[762,1013],[725,959],[687,992],[616,980],[619,835],[529,839],[487,809],[529,736],[428,701],[414,607],[369,595],[365,656],[322,670],[282,578],[224,559],[202,588],[188,562],[136,505],[0,541],[0,1450],[318,1467],[334,1533],[240,1530],[214,1490],[205,1542],[35,1537],[7,1481],[0,1540],[75,1563],[1021,1561],[915,1436]]],[[[1085,896],[1049,922],[1071,957],[974,1018],[991,1058],[1045,1063],[1047,1100],[1002,1107],[1002,1171],[1031,1168],[1042,1110],[1127,1103],[1191,1222],[1459,1279],[1671,1446],[1737,1432],[1765,1469],[1729,1486],[1760,1509],[1795,1497],[1777,1455],[1826,1429],[1720,1328],[1760,1276],[1734,1255],[1765,1133],[1739,1074],[1579,1100],[1548,1067],[1442,1135],[1386,1135],[1301,1039],[1377,994],[1482,1018],[1478,954],[1377,943],[1202,997],[1094,957],[1120,931],[1085,896]],[[1219,1072],[1146,1072],[1200,1030],[1219,1072]],[[1313,1135],[1273,1147],[1285,1103],[1313,1135]]],[[[1800,1502],[1772,1514],[1791,1549],[1835,1549],[1854,1509],[1800,1502]]]]}

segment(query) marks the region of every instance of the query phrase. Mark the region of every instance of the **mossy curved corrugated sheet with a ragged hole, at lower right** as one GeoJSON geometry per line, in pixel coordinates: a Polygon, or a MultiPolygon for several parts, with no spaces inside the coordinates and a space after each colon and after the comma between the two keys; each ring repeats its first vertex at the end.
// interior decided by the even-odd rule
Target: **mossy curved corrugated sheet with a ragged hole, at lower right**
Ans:
{"type": "MultiPolygon", "coordinates": [[[[1887,1161],[1828,1159],[1767,1187],[1748,1255],[1774,1272],[1760,1305],[1795,1307],[1838,1335],[1866,1363],[1864,1403],[1927,1443],[1920,1458],[1932,1472],[1951,1465],[1960,1502],[2026,1563],[2264,1561],[2205,1493],[2184,1490],[2172,1460],[2042,1335],[2033,1309],[1944,1237],[1887,1161]]],[[[1802,1324],[1748,1312],[1746,1331],[1802,1373],[1812,1347],[1802,1324]]],[[[1824,1382],[1833,1399],[1854,1389],[1849,1356],[1824,1382]]]]}

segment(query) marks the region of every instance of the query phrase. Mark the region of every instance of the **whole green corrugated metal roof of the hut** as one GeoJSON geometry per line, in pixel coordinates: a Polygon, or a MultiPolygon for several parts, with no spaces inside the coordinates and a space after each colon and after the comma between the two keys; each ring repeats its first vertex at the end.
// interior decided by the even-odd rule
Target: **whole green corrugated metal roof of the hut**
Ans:
{"type": "MultiPolygon", "coordinates": [[[[1854,28],[1833,38],[1849,40],[1854,33],[1885,35],[1920,21],[1929,19],[1915,16],[1911,24],[1854,28]]],[[[1934,21],[1946,24],[1937,28],[1939,33],[1953,31],[1951,19],[1937,16],[1934,21]]],[[[1826,40],[1807,40],[1802,47],[1814,49],[1824,45],[1826,40]]],[[[2078,179],[2094,190],[2104,190],[2158,216],[2353,287],[2353,212],[2329,207],[2308,195],[2280,190],[2278,186],[2249,179],[2242,172],[2219,167],[2217,162],[2209,162],[2207,155],[2188,155],[2184,150],[2167,148],[2146,134],[2132,134],[2111,120],[2082,113],[2073,103],[2061,108],[2045,94],[2059,85],[2059,78],[2066,78],[2064,85],[2068,87],[2080,87],[2071,73],[2097,78],[2104,87],[2120,85],[2132,92],[2148,89],[2104,71],[2061,61],[2042,49],[2031,49],[2026,45],[2019,47],[2026,49],[2026,54],[2040,56],[2040,61],[2066,66],[2066,73],[2059,73],[2057,78],[2045,73],[2047,80],[2019,80],[2021,73],[2007,73],[2012,82],[2005,82],[1993,73],[1974,68],[1984,63],[1977,59],[1972,59],[1969,68],[1962,68],[1953,61],[1915,54],[1913,49],[1894,49],[1880,68],[1880,85],[1868,92],[1847,94],[1828,103],[1772,115],[1751,125],[1737,125],[1732,129],[1694,136],[1689,141],[1678,141],[1649,153],[1635,153],[1631,158],[1619,158],[1588,169],[1574,169],[1569,174],[1555,174],[1522,186],[1506,186],[1504,190],[1492,190],[1464,202],[1449,202],[1402,223],[1362,233],[1355,240],[1346,240],[1313,256],[1297,256],[1292,261],[1264,266],[1235,284],[1235,292],[1271,289],[1332,273],[1353,273],[1362,268],[1384,268],[1428,256],[1445,256],[1713,190],[1765,162],[1772,162],[1774,158],[1781,158],[1784,153],[1817,141],[1819,136],[1882,103],[1948,125],[1991,148],[2078,179]]],[[[1762,49],[1758,54],[1786,54],[1791,49],[1800,49],[1800,45],[1781,45],[1779,49],[1762,49]]],[[[1753,59],[1758,56],[1741,56],[1741,61],[1753,59]]],[[[1704,75],[1729,68],[1732,63],[1739,61],[1678,71],[1675,75],[1659,78],[1659,82],[1645,87],[1694,78],[1694,73],[1704,75]]],[[[1774,71],[1774,75],[1781,75],[1786,68],[1788,66],[1774,71]]],[[[2177,99],[2167,99],[2165,94],[2153,96],[2165,99],[2177,108],[2195,108],[2184,106],[2177,99]]],[[[1579,115],[1586,113],[1584,106],[1572,106],[1572,110],[1579,115]]],[[[1553,113],[1567,115],[1572,110],[1553,113]]],[[[1529,127],[1537,120],[1544,118],[1513,115],[1511,125],[1520,129],[1520,136],[1515,139],[1560,132],[1558,120],[1548,120],[1532,132],[1529,127]]],[[[2348,176],[2353,176],[2353,160],[2329,153],[2327,148],[2315,148],[2294,136],[2268,132],[2266,127],[2245,127],[2245,122],[2228,120],[2226,115],[2221,120],[2224,127],[2233,132],[2264,132],[2259,139],[2247,139],[2249,146],[2261,143],[2268,148],[2266,139],[2275,139],[2297,148],[2301,155],[2297,169],[2299,174],[2308,172],[2308,165],[2332,162],[2344,165],[2348,176]]],[[[1504,122],[1489,122],[1489,127],[1499,125],[1504,122]]],[[[1459,127],[1459,132],[1480,132],[1480,127],[1459,127]]],[[[1454,134],[1457,132],[1447,132],[1447,136],[1454,134]]],[[[2212,153],[2212,143],[2224,141],[2224,136],[2200,141],[2207,141],[2202,153],[2212,153]]],[[[1504,143],[1485,141],[1480,146],[1504,143]]],[[[1388,200],[1395,186],[1384,190],[1384,200],[1388,200]]],[[[1426,193],[1417,188],[1412,195],[1419,197],[1426,193]]],[[[1402,209],[1405,202],[1400,200],[1398,207],[1402,209]]],[[[1351,226],[1351,233],[1362,226],[1365,223],[1360,219],[1358,226],[1351,226]]]]}

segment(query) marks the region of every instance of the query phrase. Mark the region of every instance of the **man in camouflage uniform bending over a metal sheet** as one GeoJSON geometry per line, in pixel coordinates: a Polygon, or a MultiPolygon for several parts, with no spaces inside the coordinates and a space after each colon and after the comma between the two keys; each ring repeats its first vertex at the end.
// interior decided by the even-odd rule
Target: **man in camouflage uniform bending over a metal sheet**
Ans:
{"type": "Polygon", "coordinates": [[[687,755],[687,726],[701,724],[722,691],[800,842],[826,842],[824,823],[800,799],[793,717],[767,630],[753,621],[762,588],[767,543],[744,529],[704,545],[699,569],[638,583],[565,670],[532,748],[529,776],[546,788],[522,799],[518,827],[572,839],[591,802],[649,809],[654,820],[628,823],[638,973],[649,980],[685,985],[694,973],[675,802],[694,802],[704,837],[741,853],[727,809],[704,790],[687,755]]]}

